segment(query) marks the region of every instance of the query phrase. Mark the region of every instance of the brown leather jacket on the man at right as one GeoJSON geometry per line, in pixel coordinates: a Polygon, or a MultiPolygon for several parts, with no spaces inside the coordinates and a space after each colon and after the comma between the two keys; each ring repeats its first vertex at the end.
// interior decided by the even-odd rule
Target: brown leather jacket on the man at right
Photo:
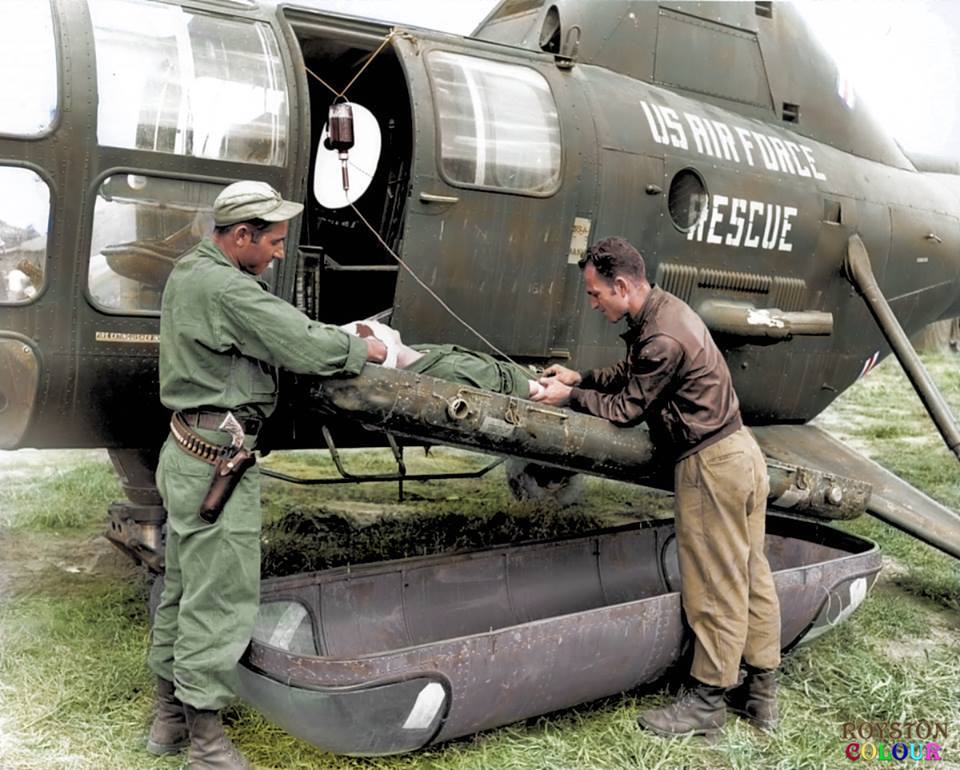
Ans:
{"type": "Polygon", "coordinates": [[[583,372],[573,409],[622,426],[646,420],[658,450],[677,460],[741,427],[730,370],[685,302],[654,286],[621,336],[626,359],[583,372]]]}

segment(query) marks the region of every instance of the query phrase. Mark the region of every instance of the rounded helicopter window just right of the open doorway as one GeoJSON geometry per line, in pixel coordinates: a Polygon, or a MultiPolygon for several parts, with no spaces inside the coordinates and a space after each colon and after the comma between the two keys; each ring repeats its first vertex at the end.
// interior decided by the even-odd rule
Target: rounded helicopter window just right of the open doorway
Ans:
{"type": "Polygon", "coordinates": [[[433,51],[440,167],[452,184],[550,195],[560,182],[560,122],[529,67],[433,51]]]}

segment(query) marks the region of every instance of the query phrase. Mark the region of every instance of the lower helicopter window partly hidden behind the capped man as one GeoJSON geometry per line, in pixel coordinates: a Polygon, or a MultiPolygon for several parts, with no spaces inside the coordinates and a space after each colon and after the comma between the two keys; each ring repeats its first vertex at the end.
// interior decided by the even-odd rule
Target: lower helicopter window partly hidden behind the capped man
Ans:
{"type": "Polygon", "coordinates": [[[117,174],[97,191],[87,290],[117,313],[159,312],[174,264],[213,231],[221,185],[117,174]]]}

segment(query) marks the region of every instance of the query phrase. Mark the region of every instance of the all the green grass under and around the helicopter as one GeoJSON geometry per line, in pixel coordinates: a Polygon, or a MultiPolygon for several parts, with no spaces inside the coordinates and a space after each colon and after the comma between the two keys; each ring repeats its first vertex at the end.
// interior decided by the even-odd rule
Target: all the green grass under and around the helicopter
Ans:
{"type": "MultiPolygon", "coordinates": [[[[933,356],[927,363],[960,412],[957,357],[933,356]]],[[[960,469],[895,362],[851,388],[820,424],[960,509],[960,469]]],[[[408,450],[407,459],[411,472],[486,462],[453,450],[433,450],[429,457],[408,450]]],[[[347,461],[354,472],[389,467],[383,452],[349,453],[347,461]]],[[[325,453],[276,453],[267,465],[330,472],[325,453]]],[[[598,479],[587,479],[586,490],[587,503],[556,511],[513,502],[500,469],[477,480],[408,483],[402,503],[392,483],[303,489],[268,482],[264,567],[269,574],[292,573],[669,515],[664,495],[598,479]]],[[[0,770],[182,763],[141,748],[153,687],[143,664],[146,587],[97,538],[107,503],[119,495],[109,463],[90,460],[0,488],[0,770]]],[[[850,620],[784,660],[783,720],[772,736],[732,718],[714,745],[642,733],[636,712],[666,702],[671,686],[611,696],[401,757],[326,754],[242,705],[226,715],[230,733],[259,767],[277,770],[801,770],[850,766],[843,755],[845,722],[926,719],[948,730],[944,761],[930,766],[960,768],[960,563],[874,519],[843,526],[880,542],[884,569],[850,620]]]]}

